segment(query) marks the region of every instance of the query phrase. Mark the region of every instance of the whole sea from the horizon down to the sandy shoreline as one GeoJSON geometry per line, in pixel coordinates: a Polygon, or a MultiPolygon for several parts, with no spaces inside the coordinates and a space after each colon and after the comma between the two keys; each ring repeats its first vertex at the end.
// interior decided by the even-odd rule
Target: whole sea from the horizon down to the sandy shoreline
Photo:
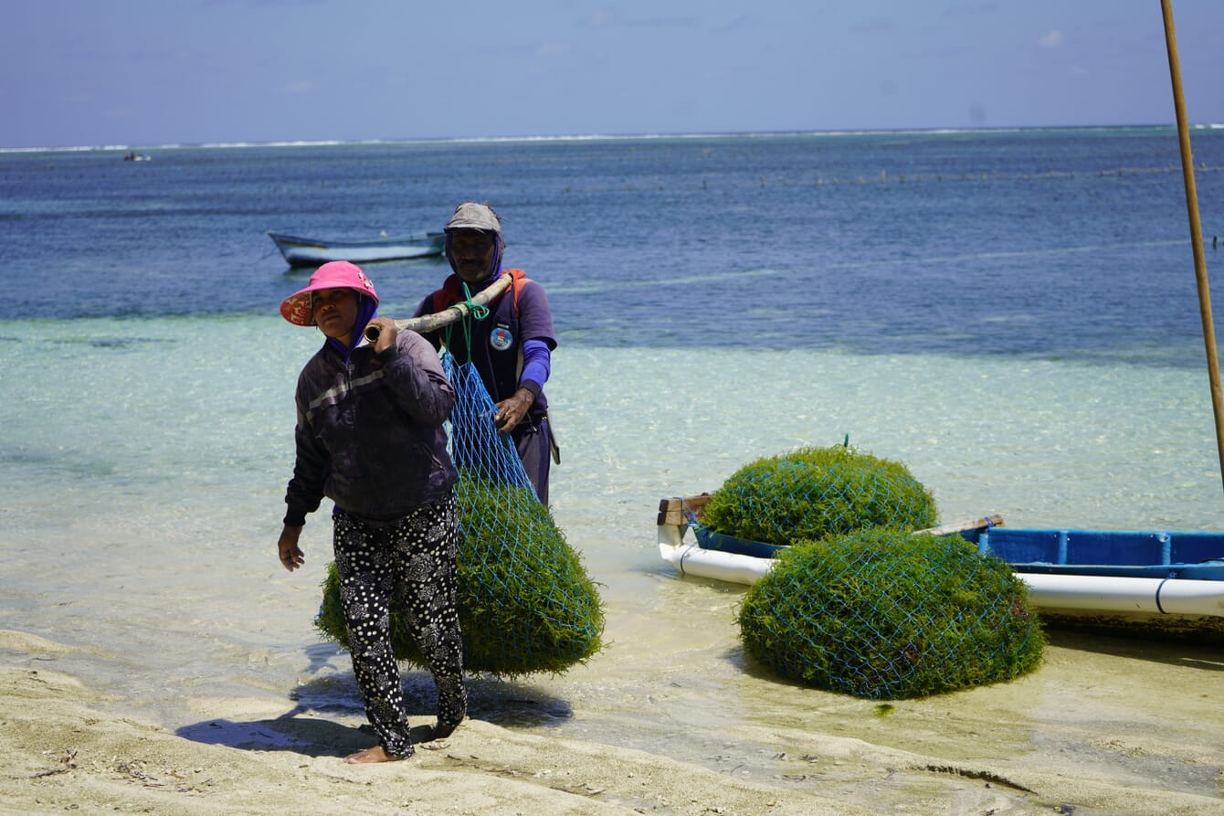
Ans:
{"type": "MultiPolygon", "coordinates": [[[[1224,130],[1193,147],[1214,271],[1224,130]]],[[[945,521],[1224,522],[1173,129],[124,152],[0,153],[0,629],[81,647],[51,668],[192,739],[275,741],[225,718],[242,697],[361,719],[312,630],[326,513],[306,569],[275,556],[319,336],[277,315],[308,272],[269,229],[416,232],[487,200],[548,290],[552,511],[608,647],[474,679],[481,718],[709,763],[745,718],[802,716],[747,702],[771,686],[743,671],[741,589],[679,578],[654,522],[799,445],[905,462],[945,521]]],[[[447,272],[366,270],[389,316],[447,272]]]]}

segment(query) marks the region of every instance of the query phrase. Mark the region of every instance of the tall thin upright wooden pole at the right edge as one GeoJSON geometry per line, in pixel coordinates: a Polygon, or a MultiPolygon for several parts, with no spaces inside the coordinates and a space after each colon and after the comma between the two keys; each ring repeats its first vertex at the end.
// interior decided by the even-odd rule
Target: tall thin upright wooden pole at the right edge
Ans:
{"type": "Polygon", "coordinates": [[[1173,105],[1177,111],[1177,138],[1181,142],[1181,175],[1186,186],[1186,212],[1190,216],[1190,244],[1195,251],[1195,278],[1198,282],[1198,311],[1203,320],[1203,343],[1207,347],[1207,375],[1212,387],[1212,410],[1215,413],[1215,448],[1220,462],[1220,479],[1224,482],[1224,391],[1220,390],[1219,357],[1215,353],[1215,326],[1212,321],[1212,293],[1207,285],[1207,260],[1203,257],[1203,228],[1198,221],[1195,159],[1190,152],[1186,103],[1181,96],[1177,36],[1173,28],[1173,0],[1160,0],[1160,9],[1164,12],[1164,40],[1169,48],[1169,76],[1173,80],[1173,105]]]}

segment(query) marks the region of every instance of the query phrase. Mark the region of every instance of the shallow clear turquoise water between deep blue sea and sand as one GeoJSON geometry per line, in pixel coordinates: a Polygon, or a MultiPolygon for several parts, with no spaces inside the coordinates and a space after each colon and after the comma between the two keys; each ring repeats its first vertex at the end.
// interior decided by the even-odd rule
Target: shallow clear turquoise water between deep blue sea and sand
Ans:
{"type": "MultiPolygon", "coordinates": [[[[175,725],[192,722],[200,695],[275,697],[349,676],[311,629],[326,517],[307,524],[305,570],[275,559],[293,382],[313,333],[271,317],[18,327],[0,363],[11,382],[42,385],[0,407],[0,627],[95,648],[65,664],[175,725]],[[235,338],[250,353],[219,358],[235,338]]],[[[666,654],[633,644],[677,613],[644,610],[693,614],[655,548],[659,499],[716,489],[758,456],[848,434],[905,462],[945,521],[1220,518],[1206,376],[1180,368],[572,347],[551,392],[563,450],[553,515],[602,584],[613,644],[592,668],[624,671],[619,693],[640,671],[667,676],[666,654]]],[[[355,705],[344,682],[321,701],[355,705]]]]}

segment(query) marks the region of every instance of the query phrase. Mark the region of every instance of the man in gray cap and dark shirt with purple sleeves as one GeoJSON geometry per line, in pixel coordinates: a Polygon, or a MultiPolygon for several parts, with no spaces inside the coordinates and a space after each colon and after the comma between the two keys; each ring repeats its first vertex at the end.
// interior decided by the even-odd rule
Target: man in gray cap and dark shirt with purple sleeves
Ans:
{"type": "Polygon", "coordinates": [[[497,406],[494,421],[510,434],[523,469],[541,504],[548,504],[550,459],[561,462],[548,426],[548,381],[557,338],[543,287],[523,270],[503,270],[502,219],[486,203],[465,201],[446,225],[446,255],[454,274],[426,295],[417,315],[442,311],[486,289],[503,274],[510,288],[488,304],[488,314],[469,315],[466,330],[426,332],[435,348],[446,344],[459,363],[472,363],[497,406]],[[469,343],[470,341],[470,343],[469,343]]]}

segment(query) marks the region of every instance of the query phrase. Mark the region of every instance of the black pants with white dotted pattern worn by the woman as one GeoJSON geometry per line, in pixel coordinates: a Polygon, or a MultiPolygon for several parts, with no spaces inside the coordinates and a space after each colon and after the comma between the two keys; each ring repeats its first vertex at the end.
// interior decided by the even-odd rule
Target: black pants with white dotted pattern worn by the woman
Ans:
{"type": "Polygon", "coordinates": [[[439,728],[454,728],[468,712],[455,609],[455,499],[439,499],[389,526],[373,526],[341,510],[333,519],[340,603],[366,716],[388,755],[411,756],[404,691],[390,646],[392,604],[433,675],[439,728]]]}

